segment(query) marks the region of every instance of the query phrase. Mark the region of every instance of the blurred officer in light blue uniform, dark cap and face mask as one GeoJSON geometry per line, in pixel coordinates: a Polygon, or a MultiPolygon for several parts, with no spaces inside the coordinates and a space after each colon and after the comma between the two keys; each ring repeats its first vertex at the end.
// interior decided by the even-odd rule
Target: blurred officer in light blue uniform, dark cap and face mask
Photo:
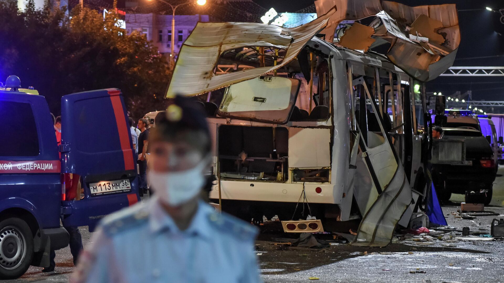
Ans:
{"type": "Polygon", "coordinates": [[[149,146],[154,197],[102,221],[72,281],[261,281],[257,229],[201,199],[211,162],[205,114],[177,96],[149,146]]]}

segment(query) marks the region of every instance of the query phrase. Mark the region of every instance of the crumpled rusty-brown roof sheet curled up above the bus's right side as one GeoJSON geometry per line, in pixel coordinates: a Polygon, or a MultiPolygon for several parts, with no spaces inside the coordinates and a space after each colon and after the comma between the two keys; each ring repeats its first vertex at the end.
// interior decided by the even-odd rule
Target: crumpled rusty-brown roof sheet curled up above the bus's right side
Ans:
{"type": "MultiPolygon", "coordinates": [[[[329,42],[333,42],[336,28],[343,20],[377,16],[381,23],[371,23],[375,29],[371,38],[380,39],[377,43],[389,42],[391,47],[385,55],[408,75],[427,82],[453,65],[460,44],[459,20],[454,4],[409,7],[380,0],[315,1],[319,15],[334,6],[338,7],[338,11],[323,31],[329,42]]],[[[368,40],[368,36],[362,35],[362,40],[368,40]]],[[[352,48],[344,41],[336,43],[352,48]]]]}

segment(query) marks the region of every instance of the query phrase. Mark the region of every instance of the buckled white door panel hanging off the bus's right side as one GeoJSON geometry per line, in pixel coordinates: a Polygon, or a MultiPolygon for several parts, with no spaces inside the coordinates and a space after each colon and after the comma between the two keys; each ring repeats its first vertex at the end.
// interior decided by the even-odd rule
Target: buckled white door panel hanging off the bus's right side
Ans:
{"type": "Polygon", "coordinates": [[[356,163],[356,174],[362,178],[356,179],[368,180],[360,185],[369,189],[367,203],[360,206],[363,219],[354,245],[386,246],[412,201],[411,188],[364,78],[353,80],[353,85],[364,90],[359,98],[359,116],[363,119],[357,125],[360,162],[356,163]],[[366,99],[371,102],[372,111],[367,109],[366,99]]]}

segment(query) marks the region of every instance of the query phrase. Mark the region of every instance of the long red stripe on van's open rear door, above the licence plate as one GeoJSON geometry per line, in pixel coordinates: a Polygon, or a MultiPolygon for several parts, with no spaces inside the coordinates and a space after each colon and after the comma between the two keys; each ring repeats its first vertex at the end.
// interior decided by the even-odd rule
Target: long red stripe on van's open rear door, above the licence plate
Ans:
{"type": "Polygon", "coordinates": [[[118,90],[109,91],[110,101],[112,101],[112,108],[114,109],[115,122],[117,123],[117,131],[119,133],[119,142],[121,144],[122,155],[124,157],[124,169],[134,170],[135,163],[133,161],[133,151],[130,145],[130,129],[126,124],[126,117],[122,109],[121,92],[118,90]]]}

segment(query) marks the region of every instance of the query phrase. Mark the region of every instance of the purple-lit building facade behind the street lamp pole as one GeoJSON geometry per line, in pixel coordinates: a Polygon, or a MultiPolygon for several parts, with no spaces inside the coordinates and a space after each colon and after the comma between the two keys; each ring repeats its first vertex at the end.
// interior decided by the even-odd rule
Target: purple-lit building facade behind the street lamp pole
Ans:
{"type": "Polygon", "coordinates": [[[170,56],[171,37],[174,36],[175,56],[180,46],[191,34],[198,22],[208,22],[208,15],[175,15],[175,34],[171,34],[171,15],[131,14],[125,15],[126,32],[138,31],[152,40],[160,53],[170,56]]]}

